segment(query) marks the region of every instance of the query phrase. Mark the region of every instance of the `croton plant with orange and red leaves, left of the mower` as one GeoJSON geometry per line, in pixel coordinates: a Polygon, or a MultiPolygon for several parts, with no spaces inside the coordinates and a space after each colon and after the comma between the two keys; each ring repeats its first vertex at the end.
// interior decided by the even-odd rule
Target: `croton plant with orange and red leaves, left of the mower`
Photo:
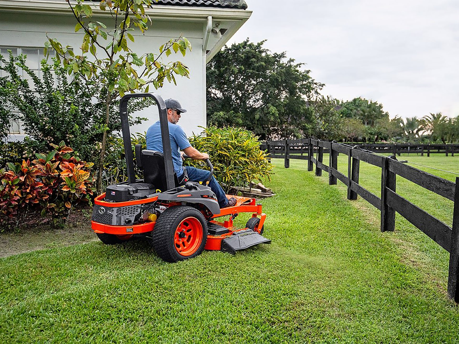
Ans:
{"type": "Polygon", "coordinates": [[[91,199],[94,164],[80,161],[63,141],[51,146],[48,154],[0,170],[0,218],[20,218],[22,210],[34,209],[65,220],[74,205],[91,199]]]}

